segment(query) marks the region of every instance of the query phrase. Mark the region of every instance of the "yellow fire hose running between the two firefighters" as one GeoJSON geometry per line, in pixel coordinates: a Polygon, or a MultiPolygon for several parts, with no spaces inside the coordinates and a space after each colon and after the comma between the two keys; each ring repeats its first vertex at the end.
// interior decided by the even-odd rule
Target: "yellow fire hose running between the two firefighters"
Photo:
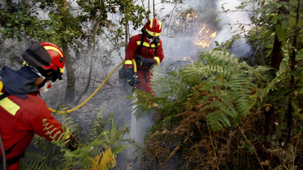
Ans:
{"type": "MultiPolygon", "coordinates": [[[[137,73],[137,65],[136,65],[136,61],[134,59],[132,59],[133,65],[134,65],[134,72],[135,74],[137,73]]],[[[108,74],[108,76],[103,80],[103,82],[99,85],[99,87],[90,95],[88,96],[88,98],[86,100],[84,100],[81,104],[79,104],[78,106],[70,109],[70,110],[66,110],[66,111],[56,111],[50,107],[48,107],[48,109],[52,112],[52,113],[57,113],[57,114],[62,114],[62,113],[71,113],[77,109],[79,109],[80,107],[82,107],[86,102],[88,102],[88,100],[90,100],[99,90],[100,88],[105,84],[105,82],[109,79],[109,77],[112,76],[112,74],[124,63],[124,61],[122,61],[120,64],[118,64],[118,66],[116,66],[114,68],[114,70],[112,70],[112,72],[110,74],[108,74]]],[[[3,83],[2,81],[0,81],[0,92],[3,88],[3,83]]]]}

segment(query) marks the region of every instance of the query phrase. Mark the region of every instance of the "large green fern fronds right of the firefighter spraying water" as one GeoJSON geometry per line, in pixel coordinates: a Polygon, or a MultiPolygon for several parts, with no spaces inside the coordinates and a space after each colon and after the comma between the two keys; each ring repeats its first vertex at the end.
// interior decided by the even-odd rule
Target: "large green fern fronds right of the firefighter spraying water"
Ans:
{"type": "MultiPolygon", "coordinates": [[[[240,117],[249,115],[250,109],[258,100],[259,96],[254,95],[252,90],[257,89],[264,81],[259,70],[224,51],[205,51],[201,53],[198,62],[169,71],[166,75],[157,68],[154,74],[152,87],[156,97],[140,92],[141,97],[152,101],[154,106],[145,100],[138,100],[135,104],[142,108],[139,110],[141,114],[148,109],[154,109],[156,113],[163,115],[163,119],[155,125],[162,128],[175,127],[176,122],[173,125],[168,118],[191,107],[188,99],[199,96],[203,91],[209,94],[201,95],[197,102],[204,105],[200,111],[208,110],[206,118],[213,129],[231,126],[231,119],[241,123],[240,117]],[[196,87],[199,88],[195,89],[196,87]],[[215,101],[209,103],[212,99],[215,101]]],[[[132,99],[136,98],[138,96],[132,99]]]]}

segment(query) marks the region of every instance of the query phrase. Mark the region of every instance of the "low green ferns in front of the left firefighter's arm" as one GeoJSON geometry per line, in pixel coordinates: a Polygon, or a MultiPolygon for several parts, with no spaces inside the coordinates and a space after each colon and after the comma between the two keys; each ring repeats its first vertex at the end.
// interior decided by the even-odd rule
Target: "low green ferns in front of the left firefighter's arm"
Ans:
{"type": "MultiPolygon", "coordinates": [[[[117,124],[114,113],[110,113],[106,118],[103,118],[102,115],[103,111],[97,114],[86,139],[83,139],[80,132],[75,131],[79,126],[75,124],[73,119],[67,115],[62,115],[63,129],[65,129],[64,127],[70,129],[73,138],[79,142],[74,142],[77,148],[74,151],[66,147],[70,140],[65,140],[65,132],[52,133],[52,126],[47,123],[46,119],[43,120],[46,134],[51,139],[57,140],[49,142],[40,136],[35,136],[33,144],[39,149],[26,151],[26,156],[23,158],[24,167],[21,169],[89,169],[92,166],[92,161],[96,160],[95,157],[102,155],[107,148],[111,148],[113,155],[123,152],[126,146],[120,142],[123,142],[123,136],[129,132],[128,127],[125,123],[117,124]]],[[[74,140],[72,139],[72,141],[74,140]]],[[[94,164],[97,163],[94,162],[94,164]]]]}

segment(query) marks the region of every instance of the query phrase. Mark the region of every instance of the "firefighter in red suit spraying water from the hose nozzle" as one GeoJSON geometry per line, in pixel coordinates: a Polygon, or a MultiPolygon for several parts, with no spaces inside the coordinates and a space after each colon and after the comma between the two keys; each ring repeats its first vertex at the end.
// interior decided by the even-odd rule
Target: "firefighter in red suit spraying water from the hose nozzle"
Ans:
{"type": "Polygon", "coordinates": [[[160,64],[164,58],[162,41],[159,38],[161,30],[161,22],[158,19],[148,20],[142,28],[142,34],[130,38],[125,52],[124,67],[128,84],[149,93],[153,93],[150,69],[160,64]],[[137,76],[134,75],[132,59],[136,60],[137,76]]]}

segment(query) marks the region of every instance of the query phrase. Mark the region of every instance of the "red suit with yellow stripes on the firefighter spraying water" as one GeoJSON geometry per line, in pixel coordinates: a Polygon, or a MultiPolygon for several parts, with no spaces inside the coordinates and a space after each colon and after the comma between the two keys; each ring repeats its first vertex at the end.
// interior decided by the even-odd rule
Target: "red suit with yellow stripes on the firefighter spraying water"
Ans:
{"type": "MultiPolygon", "coordinates": [[[[138,54],[137,49],[141,44],[141,35],[142,34],[134,35],[129,40],[125,52],[125,65],[124,65],[125,68],[130,68],[133,66],[132,59],[133,58],[136,59],[136,56],[138,54]]],[[[141,50],[141,56],[145,58],[153,58],[155,60],[155,65],[161,63],[164,58],[161,39],[159,38],[157,51],[155,51],[155,41],[149,42],[146,36],[144,35],[144,43],[141,50]]],[[[140,82],[138,83],[138,89],[153,93],[153,90],[150,87],[151,70],[148,69],[150,68],[146,66],[137,65],[137,75],[138,75],[138,80],[140,80],[140,82]],[[146,69],[145,74],[148,82],[145,81],[144,70],[142,69],[146,69]]]]}

